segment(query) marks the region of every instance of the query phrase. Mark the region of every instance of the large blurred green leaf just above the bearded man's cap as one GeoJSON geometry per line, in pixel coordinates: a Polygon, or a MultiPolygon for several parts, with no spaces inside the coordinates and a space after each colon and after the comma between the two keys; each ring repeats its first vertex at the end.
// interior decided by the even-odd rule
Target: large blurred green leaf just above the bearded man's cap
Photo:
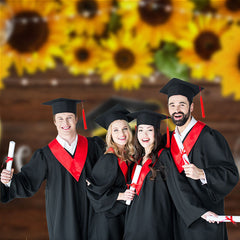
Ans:
{"type": "Polygon", "coordinates": [[[169,78],[180,78],[189,81],[189,67],[179,63],[176,56],[178,47],[174,44],[165,44],[155,53],[154,59],[157,69],[169,78]]]}

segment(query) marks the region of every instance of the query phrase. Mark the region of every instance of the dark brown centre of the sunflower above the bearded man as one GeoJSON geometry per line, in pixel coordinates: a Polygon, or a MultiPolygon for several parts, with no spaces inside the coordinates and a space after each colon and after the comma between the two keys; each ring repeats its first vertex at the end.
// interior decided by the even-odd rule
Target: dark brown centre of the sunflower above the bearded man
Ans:
{"type": "Polygon", "coordinates": [[[210,60],[212,54],[221,48],[219,37],[210,31],[202,32],[194,41],[195,51],[204,60],[210,60]]]}

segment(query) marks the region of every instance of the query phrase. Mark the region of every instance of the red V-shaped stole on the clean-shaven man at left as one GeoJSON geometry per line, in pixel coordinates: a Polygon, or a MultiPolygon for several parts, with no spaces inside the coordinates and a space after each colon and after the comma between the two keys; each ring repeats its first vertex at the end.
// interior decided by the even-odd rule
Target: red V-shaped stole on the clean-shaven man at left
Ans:
{"type": "Polygon", "coordinates": [[[56,138],[50,142],[48,146],[55,158],[63,165],[63,167],[66,168],[66,170],[76,179],[76,181],[78,181],[87,158],[87,138],[78,135],[77,147],[73,158],[61,146],[56,138]]]}

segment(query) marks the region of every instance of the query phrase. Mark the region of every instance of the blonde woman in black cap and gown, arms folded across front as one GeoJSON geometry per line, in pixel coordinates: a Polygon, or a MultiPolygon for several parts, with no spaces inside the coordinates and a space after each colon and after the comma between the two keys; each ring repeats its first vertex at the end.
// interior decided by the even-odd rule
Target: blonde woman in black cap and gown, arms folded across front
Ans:
{"type": "Polygon", "coordinates": [[[115,105],[96,119],[107,129],[106,152],[92,171],[88,197],[94,209],[89,227],[89,240],[121,240],[124,232],[126,200],[132,200],[134,191],[127,189],[129,164],[134,147],[128,121],[129,112],[115,105]]]}

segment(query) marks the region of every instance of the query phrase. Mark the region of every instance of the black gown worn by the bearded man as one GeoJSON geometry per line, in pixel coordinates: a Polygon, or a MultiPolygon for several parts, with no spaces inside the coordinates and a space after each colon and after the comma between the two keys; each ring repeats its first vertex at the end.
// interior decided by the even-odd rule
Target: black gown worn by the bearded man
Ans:
{"type": "MultiPolygon", "coordinates": [[[[191,193],[181,196],[181,201],[190,205],[199,204],[206,211],[224,215],[224,197],[231,192],[239,179],[238,170],[226,140],[218,131],[205,126],[191,149],[188,158],[191,163],[204,170],[207,184],[203,185],[200,180],[187,178],[184,172],[179,173],[175,163],[171,161],[170,165],[168,165],[169,189],[177,189],[175,193],[172,191],[172,195],[175,195],[175,198],[177,198],[179,189],[182,192],[186,192],[181,182],[183,184],[184,182],[188,183],[192,188],[190,192],[193,192],[195,195],[191,193]]],[[[225,223],[210,224],[201,217],[194,221],[196,216],[191,218],[191,214],[189,215],[189,213],[184,213],[184,211],[179,211],[178,209],[175,218],[175,239],[228,239],[225,223]],[[190,221],[186,221],[186,219],[190,221]]]]}

